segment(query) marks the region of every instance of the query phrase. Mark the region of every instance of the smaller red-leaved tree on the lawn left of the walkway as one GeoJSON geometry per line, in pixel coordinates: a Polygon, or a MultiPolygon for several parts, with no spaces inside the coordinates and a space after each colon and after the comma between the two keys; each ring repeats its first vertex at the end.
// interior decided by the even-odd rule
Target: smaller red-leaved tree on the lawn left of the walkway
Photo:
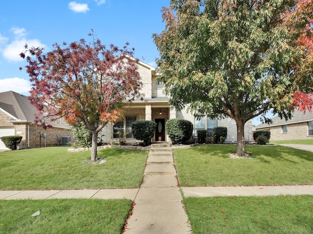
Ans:
{"type": "Polygon", "coordinates": [[[93,38],[93,32],[89,36],[89,43],[80,39],[63,43],[64,48],[53,44],[48,53],[25,45],[20,56],[28,63],[30,101],[38,110],[35,123],[47,128],[60,117],[69,124],[81,120],[92,134],[91,160],[95,161],[99,131],[119,121],[123,103],[140,97],[142,83],[128,43],[122,49],[106,47],[93,38]]]}

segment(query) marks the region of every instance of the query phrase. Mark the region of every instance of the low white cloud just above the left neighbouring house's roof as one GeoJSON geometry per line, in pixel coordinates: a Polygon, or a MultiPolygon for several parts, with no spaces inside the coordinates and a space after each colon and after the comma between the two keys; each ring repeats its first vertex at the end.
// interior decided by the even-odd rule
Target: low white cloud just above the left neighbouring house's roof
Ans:
{"type": "Polygon", "coordinates": [[[22,78],[5,78],[0,79],[0,93],[14,91],[19,94],[29,95],[30,81],[22,78]],[[17,85],[18,84],[18,85],[17,85]]]}

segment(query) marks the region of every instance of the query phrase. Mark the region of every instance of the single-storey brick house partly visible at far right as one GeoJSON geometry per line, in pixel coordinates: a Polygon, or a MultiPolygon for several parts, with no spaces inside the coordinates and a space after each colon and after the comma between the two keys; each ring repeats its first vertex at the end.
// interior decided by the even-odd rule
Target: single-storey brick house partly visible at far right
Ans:
{"type": "Polygon", "coordinates": [[[271,140],[313,138],[313,112],[295,110],[290,120],[276,116],[271,124],[259,124],[255,130],[269,130],[271,140]]]}

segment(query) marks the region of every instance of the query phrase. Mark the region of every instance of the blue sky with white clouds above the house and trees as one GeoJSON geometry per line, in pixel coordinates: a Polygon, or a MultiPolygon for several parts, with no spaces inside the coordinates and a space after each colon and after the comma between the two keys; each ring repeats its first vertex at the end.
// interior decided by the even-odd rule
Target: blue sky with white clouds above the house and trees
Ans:
{"type": "MultiPolygon", "coordinates": [[[[26,65],[19,54],[23,46],[43,46],[88,39],[94,34],[103,44],[119,47],[129,42],[134,57],[156,66],[159,54],[152,39],[160,33],[162,6],[170,0],[1,0],[0,92],[28,95],[26,65]]],[[[258,124],[257,119],[253,120],[258,124]]]]}

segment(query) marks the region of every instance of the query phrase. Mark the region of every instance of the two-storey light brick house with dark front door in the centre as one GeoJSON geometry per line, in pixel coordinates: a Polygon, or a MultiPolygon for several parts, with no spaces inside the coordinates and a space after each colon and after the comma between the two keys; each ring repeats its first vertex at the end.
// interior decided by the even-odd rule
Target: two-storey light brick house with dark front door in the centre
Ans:
{"type": "MultiPolygon", "coordinates": [[[[210,119],[207,116],[200,118],[187,113],[186,109],[177,111],[170,107],[169,97],[164,95],[164,89],[156,78],[159,76],[158,69],[142,61],[138,62],[138,72],[143,82],[141,93],[144,94],[144,101],[135,100],[131,104],[124,106],[125,117],[122,121],[112,125],[107,125],[102,134],[103,142],[110,143],[117,141],[119,137],[126,135],[128,142],[134,142],[131,134],[131,124],[135,120],[152,120],[157,123],[155,137],[152,141],[169,141],[165,129],[165,123],[168,119],[182,118],[191,121],[194,125],[194,137],[197,137],[197,131],[206,129],[208,134],[212,133],[214,127],[227,127],[226,143],[237,142],[237,126],[235,120],[231,118],[210,119]],[[118,133],[121,133],[120,135],[118,133]],[[127,133],[127,134],[126,134],[127,133]]],[[[245,125],[245,138],[247,143],[252,142],[252,120],[245,125]]]]}

